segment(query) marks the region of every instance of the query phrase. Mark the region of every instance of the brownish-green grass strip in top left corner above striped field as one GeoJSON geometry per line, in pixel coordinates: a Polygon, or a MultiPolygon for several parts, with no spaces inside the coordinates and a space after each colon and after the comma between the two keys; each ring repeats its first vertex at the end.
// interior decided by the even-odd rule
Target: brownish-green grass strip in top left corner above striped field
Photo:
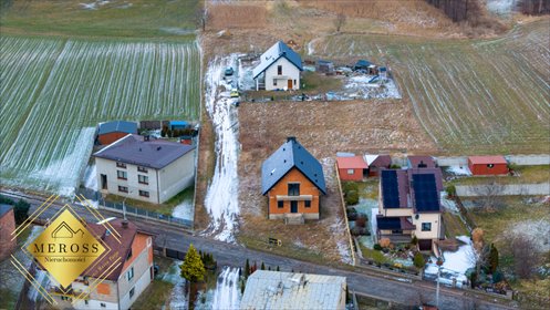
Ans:
{"type": "Polygon", "coordinates": [[[195,35],[199,0],[2,0],[2,33],[61,37],[195,35]]]}

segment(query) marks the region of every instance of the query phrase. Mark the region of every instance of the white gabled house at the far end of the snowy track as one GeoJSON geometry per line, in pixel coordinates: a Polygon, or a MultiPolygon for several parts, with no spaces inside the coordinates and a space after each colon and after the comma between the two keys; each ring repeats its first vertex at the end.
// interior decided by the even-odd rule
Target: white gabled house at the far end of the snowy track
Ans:
{"type": "Polygon", "coordinates": [[[260,56],[260,64],[252,70],[256,90],[300,90],[302,59],[282,41],[274,43],[260,56]]]}

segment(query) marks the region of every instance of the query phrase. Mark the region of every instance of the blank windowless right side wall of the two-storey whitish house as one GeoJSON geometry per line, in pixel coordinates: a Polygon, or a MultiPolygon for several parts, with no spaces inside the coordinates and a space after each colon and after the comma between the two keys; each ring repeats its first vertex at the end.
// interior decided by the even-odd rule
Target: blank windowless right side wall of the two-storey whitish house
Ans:
{"type": "Polygon", "coordinates": [[[158,170],[159,204],[168,200],[195,180],[195,152],[193,149],[158,170]]]}

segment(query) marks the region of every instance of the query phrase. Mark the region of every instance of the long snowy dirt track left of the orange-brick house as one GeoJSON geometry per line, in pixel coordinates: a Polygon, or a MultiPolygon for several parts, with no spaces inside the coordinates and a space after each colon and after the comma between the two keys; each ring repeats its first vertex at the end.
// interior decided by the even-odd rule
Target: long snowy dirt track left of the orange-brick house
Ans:
{"type": "Polygon", "coordinates": [[[231,85],[222,80],[224,69],[236,68],[237,54],[217,56],[208,64],[205,75],[205,104],[216,132],[216,167],[208,186],[205,206],[211,216],[206,234],[216,239],[234,242],[239,215],[239,178],[237,163],[239,156],[239,120],[237,108],[229,97],[231,85]],[[219,91],[219,87],[224,91],[219,91]]]}

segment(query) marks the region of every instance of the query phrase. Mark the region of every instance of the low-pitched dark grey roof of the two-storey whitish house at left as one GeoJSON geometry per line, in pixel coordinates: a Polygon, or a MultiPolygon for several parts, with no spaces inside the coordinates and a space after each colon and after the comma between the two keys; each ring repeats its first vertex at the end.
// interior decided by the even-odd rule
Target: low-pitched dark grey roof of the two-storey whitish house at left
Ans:
{"type": "Polygon", "coordinates": [[[139,135],[127,135],[93,156],[160,169],[193,151],[195,146],[176,142],[144,141],[139,135]]]}

